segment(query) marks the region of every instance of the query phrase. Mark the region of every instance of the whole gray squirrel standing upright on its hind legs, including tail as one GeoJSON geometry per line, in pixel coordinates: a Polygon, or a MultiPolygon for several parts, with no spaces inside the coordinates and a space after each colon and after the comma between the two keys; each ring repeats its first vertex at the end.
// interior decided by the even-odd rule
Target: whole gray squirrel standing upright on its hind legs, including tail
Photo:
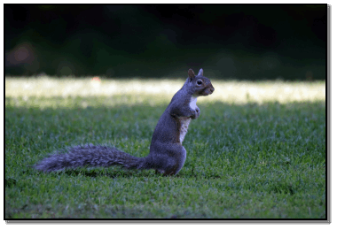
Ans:
{"type": "Polygon", "coordinates": [[[154,169],[163,175],[176,175],[184,165],[186,149],[182,143],[191,119],[198,119],[198,96],[208,96],[215,88],[200,69],[195,75],[192,69],[184,86],[172,97],[168,108],[161,115],[153,132],[150,153],[147,157],[133,157],[114,147],[79,145],[67,149],[64,154],[45,157],[35,169],[46,173],[83,166],[121,165],[127,169],[154,169]]]}

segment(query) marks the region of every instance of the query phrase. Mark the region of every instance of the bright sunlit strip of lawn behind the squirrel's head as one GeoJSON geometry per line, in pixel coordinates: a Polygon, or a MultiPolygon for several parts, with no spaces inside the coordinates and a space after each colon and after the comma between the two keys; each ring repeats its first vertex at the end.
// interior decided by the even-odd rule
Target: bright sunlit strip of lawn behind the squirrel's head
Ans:
{"type": "MultiPolygon", "coordinates": [[[[212,80],[215,93],[200,97],[199,102],[263,103],[325,101],[325,81],[226,81],[212,80]]],[[[143,103],[145,98],[153,104],[168,101],[182,87],[181,80],[92,80],[43,78],[6,78],[5,96],[63,98],[74,96],[131,96],[133,103],[143,103]]],[[[112,102],[111,102],[112,103],[112,102]]],[[[122,103],[118,101],[116,103],[122,103]]]]}

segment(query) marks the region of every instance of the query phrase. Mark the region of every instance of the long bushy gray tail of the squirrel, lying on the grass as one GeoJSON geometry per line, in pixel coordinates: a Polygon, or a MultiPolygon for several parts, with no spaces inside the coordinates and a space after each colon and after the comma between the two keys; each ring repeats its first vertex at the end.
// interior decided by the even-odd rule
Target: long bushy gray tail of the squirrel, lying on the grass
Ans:
{"type": "Polygon", "coordinates": [[[67,149],[65,154],[55,154],[45,157],[35,169],[43,172],[58,171],[66,168],[83,166],[122,165],[128,169],[147,169],[145,158],[133,157],[119,149],[107,146],[87,144],[67,149]]]}

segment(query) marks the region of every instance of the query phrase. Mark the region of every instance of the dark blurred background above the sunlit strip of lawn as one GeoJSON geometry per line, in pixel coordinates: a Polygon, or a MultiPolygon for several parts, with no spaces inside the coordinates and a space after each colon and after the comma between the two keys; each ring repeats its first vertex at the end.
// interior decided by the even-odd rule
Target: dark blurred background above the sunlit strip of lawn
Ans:
{"type": "Polygon", "coordinates": [[[6,6],[5,74],[325,80],[325,6],[6,6]]]}

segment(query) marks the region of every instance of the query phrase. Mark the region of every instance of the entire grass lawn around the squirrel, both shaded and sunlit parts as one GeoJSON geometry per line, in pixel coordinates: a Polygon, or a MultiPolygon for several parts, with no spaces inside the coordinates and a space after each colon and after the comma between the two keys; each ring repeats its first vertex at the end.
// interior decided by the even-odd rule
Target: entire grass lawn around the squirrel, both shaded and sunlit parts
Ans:
{"type": "Polygon", "coordinates": [[[174,177],[30,167],[87,142],[145,157],[183,83],[6,78],[5,218],[325,218],[325,81],[212,80],[174,177]]]}

